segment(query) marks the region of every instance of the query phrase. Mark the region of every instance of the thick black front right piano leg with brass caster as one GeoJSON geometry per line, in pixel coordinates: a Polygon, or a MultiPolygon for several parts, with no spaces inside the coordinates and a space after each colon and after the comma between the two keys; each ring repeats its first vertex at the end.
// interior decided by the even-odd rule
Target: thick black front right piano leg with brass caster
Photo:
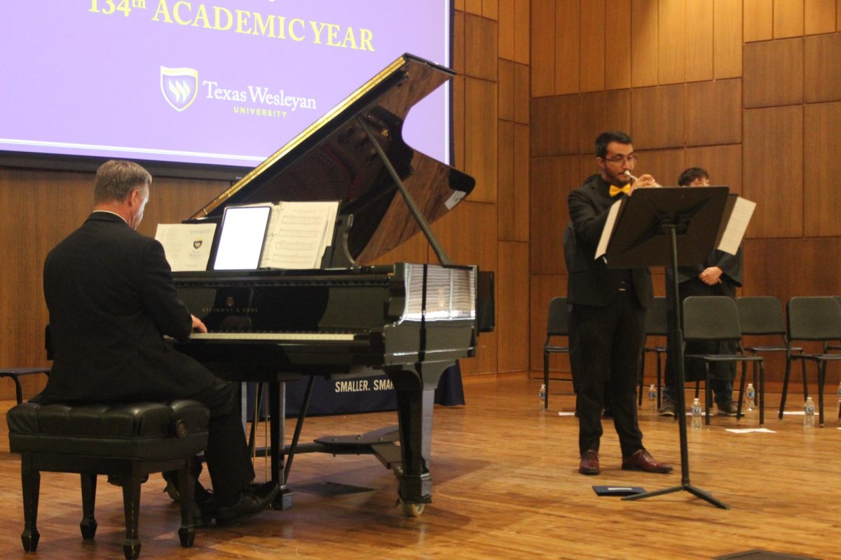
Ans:
{"type": "Polygon", "coordinates": [[[452,363],[416,364],[414,369],[386,369],[397,391],[402,472],[398,496],[407,516],[420,516],[432,501],[429,474],[435,390],[452,363]]]}

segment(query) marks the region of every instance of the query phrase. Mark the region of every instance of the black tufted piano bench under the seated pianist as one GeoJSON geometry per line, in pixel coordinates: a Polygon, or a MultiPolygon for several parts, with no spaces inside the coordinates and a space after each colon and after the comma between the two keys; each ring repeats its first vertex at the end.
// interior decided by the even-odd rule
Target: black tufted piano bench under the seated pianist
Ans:
{"type": "Polygon", "coordinates": [[[82,477],[82,537],[93,539],[97,475],[123,488],[126,558],[140,556],[140,484],[150,473],[177,471],[181,495],[182,547],[192,547],[193,461],[208,439],[208,408],[193,400],[68,406],[25,402],[6,414],[9,451],[21,455],[24,489],[24,551],[34,552],[40,472],[82,477]]]}

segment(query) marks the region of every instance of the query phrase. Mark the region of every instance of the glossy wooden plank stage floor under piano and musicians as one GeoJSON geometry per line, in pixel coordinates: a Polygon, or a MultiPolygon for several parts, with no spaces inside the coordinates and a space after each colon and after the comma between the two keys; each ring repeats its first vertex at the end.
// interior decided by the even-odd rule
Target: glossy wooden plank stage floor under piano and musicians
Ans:
{"type": "MultiPolygon", "coordinates": [[[[622,471],[616,434],[606,421],[602,474],[584,477],[576,470],[577,421],[558,415],[558,407],[572,410],[572,397],[555,392],[555,385],[563,390],[566,384],[553,385],[552,412],[545,414],[538,411],[538,385],[524,377],[471,381],[468,406],[436,408],[433,503],[420,517],[407,518],[394,507],[394,475],[376,459],[312,454],[295,459],[293,487],[331,482],[370,490],[332,497],[298,491],[291,510],[267,511],[230,529],[200,529],[195,546],[182,549],[177,505],[153,477],[141,500],[141,557],[674,559],[760,548],[841,558],[841,430],[834,395],[822,429],[804,430],[801,416],[779,421],[770,407],[765,427],[775,433],[726,431],[758,427],[756,412],[742,421],[714,417],[709,429],[690,431],[691,482],[731,507],[718,510],[685,491],[640,501],[597,497],[594,484],[647,490],[679,485],[677,425],[643,405],[645,445],[654,457],[674,463],[674,474],[622,471]]],[[[779,395],[769,401],[774,405],[779,395]]],[[[0,411],[11,404],[0,403],[0,411]]],[[[302,441],[395,421],[394,413],[314,418],[302,441]]],[[[99,484],[98,533],[94,542],[83,542],[78,478],[49,473],[41,479],[40,546],[37,554],[24,555],[19,458],[8,453],[4,420],[0,428],[0,557],[122,557],[119,489],[99,484]]],[[[262,478],[262,459],[257,467],[262,478]]]]}

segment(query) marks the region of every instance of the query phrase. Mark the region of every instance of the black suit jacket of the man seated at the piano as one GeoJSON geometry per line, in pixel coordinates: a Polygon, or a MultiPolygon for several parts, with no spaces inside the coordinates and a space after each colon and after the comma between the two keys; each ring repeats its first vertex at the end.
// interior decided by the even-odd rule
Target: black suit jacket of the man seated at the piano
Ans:
{"type": "Polygon", "coordinates": [[[161,243],[108,212],[56,245],[44,264],[54,364],[39,402],[184,398],[214,383],[161,335],[188,338],[161,243]]]}

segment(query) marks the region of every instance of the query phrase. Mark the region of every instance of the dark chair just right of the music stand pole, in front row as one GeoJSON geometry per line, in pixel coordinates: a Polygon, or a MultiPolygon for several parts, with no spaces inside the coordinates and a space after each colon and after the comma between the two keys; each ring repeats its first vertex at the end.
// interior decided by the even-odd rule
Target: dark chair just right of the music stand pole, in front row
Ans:
{"type": "MultiPolygon", "coordinates": [[[[739,384],[738,408],[736,417],[741,418],[744,380],[748,362],[754,364],[754,375],[759,367],[759,426],[764,424],[765,406],[765,365],[762,356],[744,353],[742,330],[739,327],[736,302],[728,296],[690,296],[683,304],[685,341],[736,343],[738,353],[687,354],[686,360],[700,360],[704,364],[704,390],[706,393],[706,425],[710,425],[712,407],[712,387],[710,385],[710,364],[731,362],[742,364],[742,380],[739,384]]],[[[839,355],[841,358],[841,355],[839,355]]],[[[679,388],[680,390],[680,388],[679,388]]]]}

